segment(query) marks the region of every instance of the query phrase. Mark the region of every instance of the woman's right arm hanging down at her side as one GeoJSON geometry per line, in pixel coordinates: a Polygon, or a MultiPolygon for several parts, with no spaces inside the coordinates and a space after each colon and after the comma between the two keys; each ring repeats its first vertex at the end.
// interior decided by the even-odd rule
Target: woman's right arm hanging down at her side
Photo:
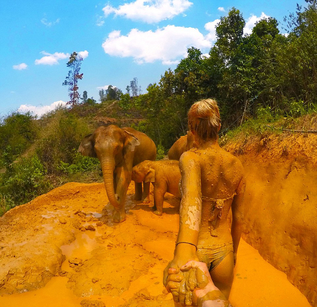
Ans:
{"type": "Polygon", "coordinates": [[[246,189],[246,183],[245,183],[245,176],[243,173],[242,178],[239,182],[238,188],[236,190],[237,195],[234,197],[232,201],[232,205],[231,205],[231,209],[232,209],[231,236],[232,236],[232,242],[233,242],[234,264],[236,264],[236,260],[237,260],[237,251],[239,247],[243,220],[244,220],[243,199],[244,199],[245,189],[246,189]]]}

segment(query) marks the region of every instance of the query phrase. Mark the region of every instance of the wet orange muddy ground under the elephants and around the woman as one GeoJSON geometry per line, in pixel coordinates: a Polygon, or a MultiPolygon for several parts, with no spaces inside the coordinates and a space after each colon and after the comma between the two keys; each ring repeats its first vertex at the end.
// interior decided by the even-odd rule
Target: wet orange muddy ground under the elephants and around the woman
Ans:
{"type": "MultiPolygon", "coordinates": [[[[159,217],[131,201],[133,190],[120,224],[111,222],[103,184],[66,184],[1,217],[0,306],[79,307],[92,300],[94,307],[173,307],[161,281],[173,256],[179,200],[167,196],[159,217]]],[[[244,241],[230,300],[235,307],[310,306],[244,241]]]]}

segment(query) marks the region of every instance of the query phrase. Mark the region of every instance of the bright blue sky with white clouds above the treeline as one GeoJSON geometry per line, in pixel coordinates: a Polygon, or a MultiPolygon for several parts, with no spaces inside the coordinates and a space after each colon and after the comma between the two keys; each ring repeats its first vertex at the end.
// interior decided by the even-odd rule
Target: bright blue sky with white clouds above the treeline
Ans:
{"type": "MultiPolygon", "coordinates": [[[[62,86],[73,51],[84,57],[79,92],[99,100],[111,84],[125,92],[137,77],[150,83],[194,46],[208,53],[217,20],[238,8],[252,30],[261,17],[294,12],[304,0],[0,0],[0,116],[17,110],[41,115],[68,101],[62,86]]],[[[281,28],[281,27],[280,27],[281,28]]],[[[281,31],[285,32],[285,31],[281,31]]]]}

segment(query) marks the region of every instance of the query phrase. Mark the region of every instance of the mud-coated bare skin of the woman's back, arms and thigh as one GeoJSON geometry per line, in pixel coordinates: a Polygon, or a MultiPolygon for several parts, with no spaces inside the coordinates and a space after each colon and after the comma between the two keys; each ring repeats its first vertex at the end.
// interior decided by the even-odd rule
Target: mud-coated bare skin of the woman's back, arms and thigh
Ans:
{"type": "MultiPolygon", "coordinates": [[[[233,242],[236,254],[243,221],[245,179],[242,164],[236,157],[223,151],[216,140],[200,143],[197,140],[196,143],[197,148],[183,153],[180,158],[182,201],[177,242],[189,242],[205,248],[233,242]],[[218,209],[213,212],[211,210],[214,202],[201,201],[202,195],[212,199],[226,199],[234,193],[237,195],[233,200],[224,202],[221,219],[217,217],[218,209]],[[231,233],[226,224],[230,207],[233,216],[231,233]]],[[[226,298],[229,297],[233,281],[233,258],[230,253],[211,271],[211,279],[226,298]]],[[[198,260],[196,248],[186,243],[178,244],[174,259],[168,267],[180,267],[189,260],[198,260]]]]}

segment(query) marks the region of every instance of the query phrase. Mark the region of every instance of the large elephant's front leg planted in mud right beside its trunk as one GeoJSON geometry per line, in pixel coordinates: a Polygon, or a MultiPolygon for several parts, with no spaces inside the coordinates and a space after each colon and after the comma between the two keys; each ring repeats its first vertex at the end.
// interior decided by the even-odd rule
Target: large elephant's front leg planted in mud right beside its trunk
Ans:
{"type": "Polygon", "coordinates": [[[116,169],[116,189],[115,197],[119,202],[120,206],[114,208],[113,221],[116,223],[122,222],[126,219],[125,214],[125,199],[128,191],[129,184],[131,182],[131,172],[123,167],[118,167],[116,169]]]}

